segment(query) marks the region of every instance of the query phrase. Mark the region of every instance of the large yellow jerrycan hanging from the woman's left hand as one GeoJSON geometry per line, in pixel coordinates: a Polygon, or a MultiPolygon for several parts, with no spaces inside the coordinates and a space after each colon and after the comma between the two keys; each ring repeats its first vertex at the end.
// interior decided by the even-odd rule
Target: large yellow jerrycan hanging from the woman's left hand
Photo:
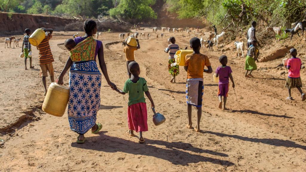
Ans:
{"type": "Polygon", "coordinates": [[[42,110],[48,114],[62,117],[69,99],[69,88],[52,82],[43,101],[42,110]]]}

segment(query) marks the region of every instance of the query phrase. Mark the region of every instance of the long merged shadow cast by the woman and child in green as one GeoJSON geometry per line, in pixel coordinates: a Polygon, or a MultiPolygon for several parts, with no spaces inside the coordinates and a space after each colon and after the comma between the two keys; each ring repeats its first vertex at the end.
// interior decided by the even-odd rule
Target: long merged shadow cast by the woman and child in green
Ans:
{"type": "MultiPolygon", "coordinates": [[[[105,133],[105,132],[104,132],[105,133]]],[[[193,151],[195,153],[208,153],[211,155],[217,155],[227,157],[228,155],[220,152],[214,152],[210,150],[203,150],[200,148],[194,148],[191,144],[183,142],[166,142],[161,140],[150,140],[146,139],[145,144],[139,144],[130,140],[125,140],[118,137],[108,136],[100,132],[99,136],[87,137],[87,141],[84,144],[72,143],[72,147],[96,150],[103,152],[124,152],[133,155],[145,155],[153,156],[159,159],[164,159],[175,165],[187,166],[189,163],[199,162],[211,162],[220,164],[222,166],[232,166],[234,163],[226,160],[209,158],[201,155],[190,154],[179,149],[193,151]],[[95,144],[92,144],[95,143],[95,144]],[[153,144],[162,145],[166,148],[158,148],[153,144]]]]}

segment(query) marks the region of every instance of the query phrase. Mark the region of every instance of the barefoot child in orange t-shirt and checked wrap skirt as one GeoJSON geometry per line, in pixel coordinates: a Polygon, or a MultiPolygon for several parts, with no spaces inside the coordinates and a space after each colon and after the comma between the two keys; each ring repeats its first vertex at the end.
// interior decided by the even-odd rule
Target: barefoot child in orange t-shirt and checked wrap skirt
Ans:
{"type": "Polygon", "coordinates": [[[206,55],[200,53],[201,41],[199,38],[190,39],[190,47],[193,50],[192,54],[185,57],[184,69],[187,72],[186,83],[186,99],[188,124],[187,128],[192,128],[191,111],[192,106],[197,109],[197,124],[194,128],[196,132],[200,132],[200,120],[202,116],[202,100],[203,100],[203,72],[212,73],[211,63],[206,55]],[[204,69],[207,66],[208,69],[204,69]]]}

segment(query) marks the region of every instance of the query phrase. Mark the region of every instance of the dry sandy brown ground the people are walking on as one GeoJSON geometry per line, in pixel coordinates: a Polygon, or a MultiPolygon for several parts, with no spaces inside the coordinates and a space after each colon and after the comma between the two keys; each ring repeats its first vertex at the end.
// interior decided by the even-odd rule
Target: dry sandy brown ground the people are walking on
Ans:
{"type": "MultiPolygon", "coordinates": [[[[68,58],[68,52],[58,44],[72,35],[61,34],[65,35],[54,36],[50,41],[56,77],[68,58]]],[[[99,135],[89,132],[85,134],[85,144],[76,144],[77,135],[69,129],[67,114],[57,118],[39,109],[44,96],[35,47],[32,48],[35,69],[25,71],[24,61],[18,57],[21,48],[1,46],[1,125],[7,126],[24,114],[28,120],[16,129],[13,127],[13,132],[0,135],[3,139],[0,171],[304,171],[306,106],[297,90],[293,90],[297,100],[285,100],[286,76],[268,68],[277,66],[281,59],[259,63],[260,70],[253,73],[256,78],[245,79],[244,58],[229,55],[228,65],[233,69],[239,103],[230,88],[227,107],[231,110],[227,111],[217,107],[218,86],[212,82],[213,74],[204,74],[202,131],[196,133],[185,127],[186,72],[182,67],[177,83],[170,83],[168,55],[163,52],[170,34],[163,39],[153,35],[150,40],[140,39],[141,49],[135,52],[135,60],[140,64],[141,77],[148,81],[156,110],[167,120],[155,127],[148,117],[146,144],[138,144],[137,138],[125,134],[128,97],[125,95],[124,100],[106,86],[105,80],[97,116],[103,131],[99,135]]],[[[180,47],[187,46],[193,36],[175,34],[180,47]]],[[[110,79],[122,88],[128,76],[121,44],[105,46],[119,41],[118,33],[103,33],[100,39],[110,79]]],[[[202,48],[201,52],[212,56],[210,61],[215,70],[221,51],[207,50],[202,48]]],[[[304,85],[305,73],[302,69],[304,85]]],[[[65,83],[68,85],[68,74],[65,83]]],[[[153,115],[147,107],[148,116],[153,115]]]]}

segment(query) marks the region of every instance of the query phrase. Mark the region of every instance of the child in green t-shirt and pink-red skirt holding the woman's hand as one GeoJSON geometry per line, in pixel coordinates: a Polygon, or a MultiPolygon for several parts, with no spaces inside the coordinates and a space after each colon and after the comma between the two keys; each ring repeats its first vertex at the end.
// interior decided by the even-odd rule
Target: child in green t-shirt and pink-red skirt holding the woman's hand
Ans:
{"type": "Polygon", "coordinates": [[[130,62],[129,71],[132,74],[131,78],[125,81],[123,90],[116,89],[121,94],[129,93],[128,103],[128,124],[129,130],[126,132],[129,136],[136,136],[134,131],[139,132],[139,143],[144,143],[142,137],[143,131],[148,131],[147,125],[147,105],[144,98],[146,93],[148,99],[151,102],[151,107],[155,107],[151,98],[147,81],[144,78],[139,77],[140,68],[137,62],[130,62]]]}

